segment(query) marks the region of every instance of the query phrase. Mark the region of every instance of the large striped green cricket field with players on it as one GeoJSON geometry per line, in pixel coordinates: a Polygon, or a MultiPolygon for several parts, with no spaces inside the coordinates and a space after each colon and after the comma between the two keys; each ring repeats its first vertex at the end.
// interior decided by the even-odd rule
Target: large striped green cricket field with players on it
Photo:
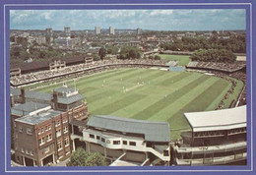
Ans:
{"type": "MultiPolygon", "coordinates": [[[[68,86],[74,87],[73,81],[68,86]]],[[[135,68],[98,73],[76,83],[87,97],[91,115],[166,121],[171,139],[189,129],[184,112],[215,109],[230,86],[223,79],[200,73],[135,68]]],[[[51,92],[56,87],[61,84],[36,90],[51,92]]]]}

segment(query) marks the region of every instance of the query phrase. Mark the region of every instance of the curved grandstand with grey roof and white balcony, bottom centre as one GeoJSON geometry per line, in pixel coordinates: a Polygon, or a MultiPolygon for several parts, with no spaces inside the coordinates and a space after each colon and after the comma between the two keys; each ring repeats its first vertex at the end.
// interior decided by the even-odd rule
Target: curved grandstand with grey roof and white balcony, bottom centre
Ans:
{"type": "Polygon", "coordinates": [[[100,152],[112,165],[169,165],[166,122],[92,116],[83,130],[87,151],[100,152]]]}

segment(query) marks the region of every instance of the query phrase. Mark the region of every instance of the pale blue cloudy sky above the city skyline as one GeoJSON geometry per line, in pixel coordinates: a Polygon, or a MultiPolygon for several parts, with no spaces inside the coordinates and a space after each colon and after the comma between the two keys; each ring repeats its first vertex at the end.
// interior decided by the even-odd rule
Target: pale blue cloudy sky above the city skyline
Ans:
{"type": "Polygon", "coordinates": [[[10,29],[245,29],[243,9],[11,10],[10,29]]]}

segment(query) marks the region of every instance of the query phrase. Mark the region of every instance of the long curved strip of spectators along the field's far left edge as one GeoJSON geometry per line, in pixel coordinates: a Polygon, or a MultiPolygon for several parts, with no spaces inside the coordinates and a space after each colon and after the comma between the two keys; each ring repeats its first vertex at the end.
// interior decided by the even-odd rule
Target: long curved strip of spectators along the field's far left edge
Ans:
{"type": "Polygon", "coordinates": [[[103,67],[109,66],[120,66],[127,65],[130,67],[148,67],[148,66],[165,66],[167,60],[151,60],[151,59],[107,59],[93,62],[91,64],[78,64],[73,66],[67,66],[61,69],[45,70],[34,72],[30,74],[23,74],[19,77],[11,77],[10,81],[13,86],[19,86],[24,84],[30,84],[33,82],[39,82],[43,80],[53,79],[56,77],[62,77],[70,74],[80,73],[80,72],[92,72],[93,69],[100,71],[103,67]]]}

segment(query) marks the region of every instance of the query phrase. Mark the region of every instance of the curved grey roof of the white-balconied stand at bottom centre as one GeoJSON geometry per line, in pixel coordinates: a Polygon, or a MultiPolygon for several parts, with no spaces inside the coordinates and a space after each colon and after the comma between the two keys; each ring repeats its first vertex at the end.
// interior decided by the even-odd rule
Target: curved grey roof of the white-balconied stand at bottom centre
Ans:
{"type": "Polygon", "coordinates": [[[126,119],[113,116],[93,116],[88,126],[97,129],[145,135],[149,142],[169,142],[169,125],[166,122],[126,119]]]}

